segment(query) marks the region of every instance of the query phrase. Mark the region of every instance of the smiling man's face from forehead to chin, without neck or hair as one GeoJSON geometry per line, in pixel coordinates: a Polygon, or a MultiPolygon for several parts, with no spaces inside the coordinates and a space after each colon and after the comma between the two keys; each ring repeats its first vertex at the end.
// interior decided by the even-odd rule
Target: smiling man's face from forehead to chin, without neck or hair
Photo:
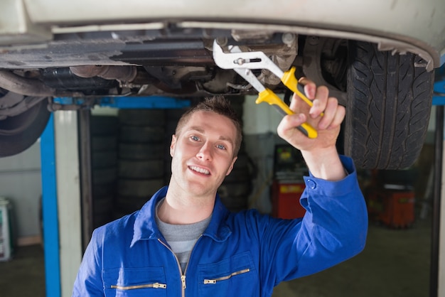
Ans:
{"type": "Polygon", "coordinates": [[[215,195],[235,163],[235,137],[235,125],[227,117],[191,114],[171,141],[171,185],[195,196],[215,195]]]}

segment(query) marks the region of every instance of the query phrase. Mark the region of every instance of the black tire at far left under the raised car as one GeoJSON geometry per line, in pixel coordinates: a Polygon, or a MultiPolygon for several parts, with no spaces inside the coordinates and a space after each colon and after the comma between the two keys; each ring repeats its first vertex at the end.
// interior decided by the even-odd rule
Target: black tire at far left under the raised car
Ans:
{"type": "Polygon", "coordinates": [[[43,99],[26,112],[0,121],[0,158],[21,153],[37,141],[50,118],[47,106],[43,99]]]}

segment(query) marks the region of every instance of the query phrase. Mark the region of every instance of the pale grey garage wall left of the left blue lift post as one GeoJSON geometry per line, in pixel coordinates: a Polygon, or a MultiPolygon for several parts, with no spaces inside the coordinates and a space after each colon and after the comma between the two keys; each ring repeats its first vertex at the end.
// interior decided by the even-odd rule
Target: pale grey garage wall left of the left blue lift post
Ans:
{"type": "Polygon", "coordinates": [[[23,153],[0,158],[0,196],[11,201],[13,233],[18,244],[41,241],[41,193],[39,141],[23,153]]]}

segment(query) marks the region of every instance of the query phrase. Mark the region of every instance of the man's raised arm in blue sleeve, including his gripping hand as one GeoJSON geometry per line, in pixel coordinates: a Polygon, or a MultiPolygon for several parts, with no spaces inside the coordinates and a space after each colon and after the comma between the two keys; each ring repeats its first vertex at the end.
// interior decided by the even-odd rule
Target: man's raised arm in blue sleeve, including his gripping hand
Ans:
{"type": "MultiPolygon", "coordinates": [[[[353,161],[336,150],[345,108],[329,97],[326,87],[316,87],[309,80],[301,82],[313,107],[294,95],[290,107],[296,114],[283,118],[278,133],[301,151],[311,173],[304,177],[306,189],[300,200],[306,215],[301,221],[273,220],[264,233],[268,247],[264,259],[272,259],[274,285],[355,256],[365,246],[368,229],[365,199],[353,161]],[[317,129],[316,139],[295,129],[305,121],[317,129]]],[[[264,269],[269,272],[268,267],[264,269]]]]}

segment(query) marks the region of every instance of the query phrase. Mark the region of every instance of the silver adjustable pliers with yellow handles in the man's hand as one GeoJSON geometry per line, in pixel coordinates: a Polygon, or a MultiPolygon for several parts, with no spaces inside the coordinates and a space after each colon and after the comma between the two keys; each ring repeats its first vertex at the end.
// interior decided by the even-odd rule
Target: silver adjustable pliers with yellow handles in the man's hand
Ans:
{"type": "MultiPolygon", "coordinates": [[[[264,87],[257,77],[252,73],[252,69],[267,69],[277,75],[283,84],[292,92],[296,93],[309,106],[312,106],[311,100],[304,95],[304,87],[299,85],[295,77],[295,68],[283,72],[272,60],[263,52],[242,52],[236,45],[230,46],[230,53],[224,53],[223,49],[218,45],[217,41],[213,42],[213,59],[216,65],[223,69],[233,69],[241,77],[259,92],[255,101],[257,104],[267,102],[273,105],[278,112],[285,116],[286,114],[294,114],[294,112],[280,99],[272,90],[264,87]]],[[[316,129],[310,124],[303,123],[297,129],[311,139],[317,137],[316,129]]]]}

